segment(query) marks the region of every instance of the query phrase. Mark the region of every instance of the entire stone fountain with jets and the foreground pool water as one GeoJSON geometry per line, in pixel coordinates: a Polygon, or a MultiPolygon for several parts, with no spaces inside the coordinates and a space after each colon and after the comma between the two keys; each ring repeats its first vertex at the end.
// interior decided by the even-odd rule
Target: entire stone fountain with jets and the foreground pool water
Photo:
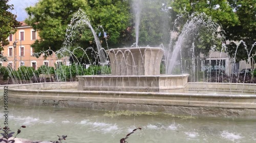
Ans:
{"type": "MultiPolygon", "coordinates": [[[[78,21],[90,25],[88,19],[78,21]]],[[[60,51],[72,53],[70,41],[65,42],[60,51]]],[[[54,132],[67,134],[67,142],[73,143],[118,142],[142,127],[129,142],[255,141],[256,84],[187,82],[188,74],[170,74],[174,61],[168,63],[168,74],[160,74],[165,51],[139,47],[138,37],[134,48],[105,51],[96,43],[103,55],[99,61],[105,63],[109,57],[109,75],[77,76],[78,82],[9,85],[8,102],[14,104],[9,108],[11,129],[20,124],[30,127],[19,137],[45,140],[56,138],[54,132]]],[[[180,45],[176,47],[175,57],[180,45]]]]}

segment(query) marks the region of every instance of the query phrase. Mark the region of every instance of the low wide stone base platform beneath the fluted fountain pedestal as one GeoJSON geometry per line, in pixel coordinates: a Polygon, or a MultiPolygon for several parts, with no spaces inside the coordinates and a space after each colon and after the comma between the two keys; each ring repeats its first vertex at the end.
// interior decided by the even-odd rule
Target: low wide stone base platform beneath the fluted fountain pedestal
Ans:
{"type": "Polygon", "coordinates": [[[183,93],[188,84],[188,74],[152,76],[89,75],[77,76],[77,78],[78,91],[183,93]]]}

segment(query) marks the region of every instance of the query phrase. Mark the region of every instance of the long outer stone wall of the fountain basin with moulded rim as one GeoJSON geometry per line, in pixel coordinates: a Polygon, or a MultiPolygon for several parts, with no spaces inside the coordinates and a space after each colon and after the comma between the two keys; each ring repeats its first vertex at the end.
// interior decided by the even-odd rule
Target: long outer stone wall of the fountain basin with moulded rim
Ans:
{"type": "Polygon", "coordinates": [[[156,111],[175,115],[256,118],[256,84],[188,83],[184,93],[77,91],[78,82],[11,85],[9,103],[25,106],[156,111]],[[241,89],[241,90],[238,90],[241,89]]]}

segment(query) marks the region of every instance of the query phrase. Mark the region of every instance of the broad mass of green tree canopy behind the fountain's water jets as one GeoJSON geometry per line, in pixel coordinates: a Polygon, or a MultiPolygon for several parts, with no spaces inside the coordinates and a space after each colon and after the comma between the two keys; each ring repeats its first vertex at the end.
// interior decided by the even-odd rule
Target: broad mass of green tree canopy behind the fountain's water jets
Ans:
{"type": "MultiPolygon", "coordinates": [[[[29,18],[25,21],[38,30],[40,36],[40,40],[37,40],[32,47],[35,47],[36,52],[49,48],[53,51],[60,49],[67,26],[79,8],[86,12],[104,48],[107,47],[106,41],[111,48],[130,46],[135,42],[132,2],[132,0],[41,0],[35,6],[26,8],[29,18]]],[[[183,43],[194,44],[197,55],[203,53],[207,56],[210,49],[221,50],[225,42],[223,37],[220,37],[223,35],[229,41],[243,40],[243,45],[251,51],[249,56],[255,55],[256,48],[253,48],[252,44],[256,35],[256,0],[148,0],[143,3],[139,46],[158,46],[161,43],[166,46],[170,40],[170,31],[181,33],[186,24],[199,17],[202,21],[198,22],[197,26],[202,28],[188,32],[183,43]],[[204,25],[213,23],[216,24],[211,30],[209,26],[204,25]]],[[[175,40],[177,39],[172,43],[175,43],[175,40]]],[[[95,47],[95,43],[90,28],[80,31],[73,49],[76,47],[86,49],[91,46],[95,47]]],[[[227,51],[231,57],[236,52],[236,48],[233,43],[228,45],[227,51]]],[[[240,50],[242,49],[241,46],[240,50]]],[[[248,59],[248,54],[243,53],[245,54],[237,56],[238,60],[248,59]]],[[[88,61],[82,59],[83,54],[80,56],[80,61],[88,61]]]]}

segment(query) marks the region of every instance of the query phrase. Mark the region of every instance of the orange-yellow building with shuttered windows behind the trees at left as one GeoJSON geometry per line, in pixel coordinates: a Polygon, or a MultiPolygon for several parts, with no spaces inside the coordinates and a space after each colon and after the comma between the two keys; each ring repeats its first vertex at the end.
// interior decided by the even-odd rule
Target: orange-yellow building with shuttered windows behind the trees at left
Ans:
{"type": "MultiPolygon", "coordinates": [[[[36,39],[39,39],[38,32],[33,30],[33,27],[21,22],[22,25],[17,27],[15,34],[8,37],[9,45],[4,47],[2,54],[7,57],[7,62],[0,62],[0,66],[10,66],[13,69],[18,69],[20,66],[39,68],[42,65],[54,67],[54,64],[63,62],[63,60],[57,60],[55,53],[44,59],[43,55],[36,58],[33,55],[33,48],[31,45],[36,39]],[[16,47],[14,42],[16,40],[16,47]]],[[[65,62],[66,63],[66,62],[65,62]]]]}

